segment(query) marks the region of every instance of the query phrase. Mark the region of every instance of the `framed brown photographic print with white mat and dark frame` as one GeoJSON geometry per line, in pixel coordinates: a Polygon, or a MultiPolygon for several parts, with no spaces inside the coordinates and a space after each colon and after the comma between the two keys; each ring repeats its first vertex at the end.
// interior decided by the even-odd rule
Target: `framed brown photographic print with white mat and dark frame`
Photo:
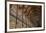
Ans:
{"type": "Polygon", "coordinates": [[[44,30],[44,7],[44,2],[7,1],[7,32],[44,30]]]}

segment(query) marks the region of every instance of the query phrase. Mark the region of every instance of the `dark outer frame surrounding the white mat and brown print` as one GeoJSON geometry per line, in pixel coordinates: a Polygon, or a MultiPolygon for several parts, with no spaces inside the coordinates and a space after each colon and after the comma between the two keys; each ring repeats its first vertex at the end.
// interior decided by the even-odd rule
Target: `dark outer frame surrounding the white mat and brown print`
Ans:
{"type": "MultiPolygon", "coordinates": [[[[13,2],[13,1],[6,1],[5,2],[5,32],[8,32],[7,31],[7,2],[13,2]]],[[[38,4],[43,4],[43,29],[40,29],[40,30],[23,30],[24,32],[25,31],[41,31],[41,30],[45,30],[45,3],[44,2],[28,2],[28,1],[14,1],[14,2],[22,2],[22,3],[38,3],[38,4]]],[[[23,31],[16,31],[16,32],[23,32],[23,31]]]]}

